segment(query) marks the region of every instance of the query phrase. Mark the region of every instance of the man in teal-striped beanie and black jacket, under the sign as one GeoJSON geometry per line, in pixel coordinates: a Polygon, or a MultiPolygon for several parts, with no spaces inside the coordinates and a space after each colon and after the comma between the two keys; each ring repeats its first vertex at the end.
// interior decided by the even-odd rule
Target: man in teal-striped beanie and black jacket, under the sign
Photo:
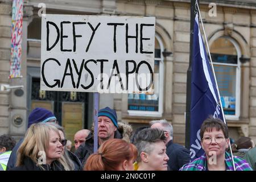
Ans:
{"type": "MultiPolygon", "coordinates": [[[[118,138],[122,135],[117,130],[117,113],[114,109],[105,107],[98,111],[98,147],[105,142],[105,140],[118,138]]],[[[86,142],[82,143],[75,151],[76,156],[80,159],[82,166],[91,154],[93,154],[93,134],[92,132],[86,137],[86,142]]]]}

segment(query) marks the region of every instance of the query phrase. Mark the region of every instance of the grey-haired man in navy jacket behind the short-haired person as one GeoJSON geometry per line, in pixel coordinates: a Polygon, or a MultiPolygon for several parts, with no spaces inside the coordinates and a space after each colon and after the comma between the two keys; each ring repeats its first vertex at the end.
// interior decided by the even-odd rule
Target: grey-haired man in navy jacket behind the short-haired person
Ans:
{"type": "Polygon", "coordinates": [[[190,161],[190,152],[187,148],[172,142],[173,129],[172,125],[166,119],[151,121],[151,128],[159,128],[164,130],[166,136],[166,153],[169,157],[167,162],[170,171],[179,171],[179,169],[190,161]]]}

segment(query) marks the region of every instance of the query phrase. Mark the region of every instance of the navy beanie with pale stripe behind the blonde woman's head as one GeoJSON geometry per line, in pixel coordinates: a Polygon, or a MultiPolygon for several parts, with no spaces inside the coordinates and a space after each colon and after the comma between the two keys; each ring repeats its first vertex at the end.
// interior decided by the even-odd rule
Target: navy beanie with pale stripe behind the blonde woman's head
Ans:
{"type": "Polygon", "coordinates": [[[29,128],[34,123],[46,123],[51,119],[56,119],[55,115],[52,114],[51,111],[41,107],[36,107],[34,110],[31,111],[30,115],[28,116],[27,128],[29,128]]]}

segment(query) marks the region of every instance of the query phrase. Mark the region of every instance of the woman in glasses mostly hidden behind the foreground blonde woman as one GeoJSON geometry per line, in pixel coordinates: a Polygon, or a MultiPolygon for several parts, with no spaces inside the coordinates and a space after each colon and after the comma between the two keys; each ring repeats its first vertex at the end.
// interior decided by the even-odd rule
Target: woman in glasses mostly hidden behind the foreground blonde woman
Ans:
{"type": "Polygon", "coordinates": [[[79,158],[77,158],[77,156],[73,154],[73,152],[68,151],[67,148],[65,147],[67,144],[67,139],[65,139],[64,128],[61,127],[60,125],[57,125],[56,123],[48,123],[48,124],[55,126],[59,130],[60,139],[61,139],[60,142],[62,144],[61,149],[63,151],[63,156],[67,160],[69,166],[72,167],[74,171],[82,171],[82,164],[79,158]]]}

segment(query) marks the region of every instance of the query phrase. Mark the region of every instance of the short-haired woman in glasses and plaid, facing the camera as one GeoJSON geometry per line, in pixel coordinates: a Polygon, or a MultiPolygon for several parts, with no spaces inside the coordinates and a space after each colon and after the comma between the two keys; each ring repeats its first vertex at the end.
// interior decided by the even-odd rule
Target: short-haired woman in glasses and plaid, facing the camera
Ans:
{"type": "MultiPolygon", "coordinates": [[[[180,171],[234,171],[229,147],[228,126],[217,118],[205,119],[200,129],[201,146],[205,151],[200,158],[185,164],[180,171]]],[[[233,156],[236,171],[252,171],[250,165],[238,156],[233,156]]]]}

